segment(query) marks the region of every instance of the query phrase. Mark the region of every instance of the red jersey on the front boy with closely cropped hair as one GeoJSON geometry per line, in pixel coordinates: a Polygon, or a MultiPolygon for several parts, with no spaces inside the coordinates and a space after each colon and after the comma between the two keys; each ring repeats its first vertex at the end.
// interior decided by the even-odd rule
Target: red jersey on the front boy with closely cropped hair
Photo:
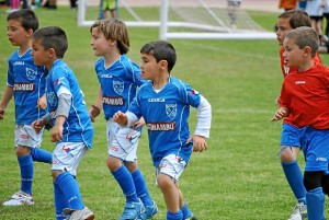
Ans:
{"type": "Polygon", "coordinates": [[[329,129],[329,68],[315,65],[305,72],[291,72],[281,90],[282,107],[287,107],[293,125],[329,129]]]}

